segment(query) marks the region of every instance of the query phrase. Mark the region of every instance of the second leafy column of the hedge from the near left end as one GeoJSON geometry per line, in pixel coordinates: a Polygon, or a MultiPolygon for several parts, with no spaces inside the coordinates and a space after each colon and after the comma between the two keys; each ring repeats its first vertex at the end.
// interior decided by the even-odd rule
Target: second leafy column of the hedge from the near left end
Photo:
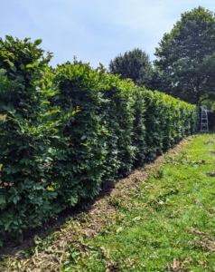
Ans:
{"type": "Polygon", "coordinates": [[[51,103],[59,106],[61,112],[76,111],[70,122],[60,126],[64,145],[58,147],[51,169],[54,190],[68,207],[98,194],[107,153],[103,140],[107,131],[101,128],[98,115],[102,102],[99,74],[89,64],[59,65],[54,83],[59,85],[59,93],[51,98],[51,103]]]}

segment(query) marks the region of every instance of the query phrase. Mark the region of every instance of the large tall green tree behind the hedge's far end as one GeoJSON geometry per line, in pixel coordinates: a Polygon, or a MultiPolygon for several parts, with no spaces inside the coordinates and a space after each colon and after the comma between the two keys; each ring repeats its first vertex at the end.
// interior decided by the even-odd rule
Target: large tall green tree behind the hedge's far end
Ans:
{"type": "Polygon", "coordinates": [[[197,103],[215,100],[215,18],[203,7],[182,14],[155,49],[159,90],[197,103]]]}

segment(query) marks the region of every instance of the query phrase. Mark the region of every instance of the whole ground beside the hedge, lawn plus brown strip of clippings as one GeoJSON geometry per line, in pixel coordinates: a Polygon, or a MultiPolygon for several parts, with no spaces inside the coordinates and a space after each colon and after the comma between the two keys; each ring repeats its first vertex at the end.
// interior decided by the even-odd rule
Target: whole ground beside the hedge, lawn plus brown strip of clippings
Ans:
{"type": "Polygon", "coordinates": [[[214,164],[215,135],[192,136],[0,270],[215,271],[214,164]]]}

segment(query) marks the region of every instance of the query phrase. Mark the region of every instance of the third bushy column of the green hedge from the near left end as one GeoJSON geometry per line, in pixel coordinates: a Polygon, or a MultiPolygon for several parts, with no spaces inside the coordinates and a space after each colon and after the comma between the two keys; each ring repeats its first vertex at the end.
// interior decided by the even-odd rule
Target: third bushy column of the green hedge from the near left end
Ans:
{"type": "Polygon", "coordinates": [[[98,73],[99,92],[102,95],[98,116],[101,127],[107,131],[104,141],[107,154],[102,181],[107,181],[126,175],[135,159],[132,146],[134,83],[119,80],[117,76],[106,73],[102,66],[98,68],[98,73]]]}

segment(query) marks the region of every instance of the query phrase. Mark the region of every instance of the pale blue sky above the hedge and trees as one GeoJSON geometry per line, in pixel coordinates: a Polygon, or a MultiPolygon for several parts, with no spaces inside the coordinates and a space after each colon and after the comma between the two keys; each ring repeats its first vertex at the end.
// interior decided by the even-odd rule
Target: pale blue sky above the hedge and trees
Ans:
{"type": "Polygon", "coordinates": [[[140,48],[154,60],[154,48],[181,14],[199,5],[215,12],[214,0],[0,0],[0,37],[32,41],[51,51],[51,65],[73,56],[93,68],[119,53],[140,48]]]}

